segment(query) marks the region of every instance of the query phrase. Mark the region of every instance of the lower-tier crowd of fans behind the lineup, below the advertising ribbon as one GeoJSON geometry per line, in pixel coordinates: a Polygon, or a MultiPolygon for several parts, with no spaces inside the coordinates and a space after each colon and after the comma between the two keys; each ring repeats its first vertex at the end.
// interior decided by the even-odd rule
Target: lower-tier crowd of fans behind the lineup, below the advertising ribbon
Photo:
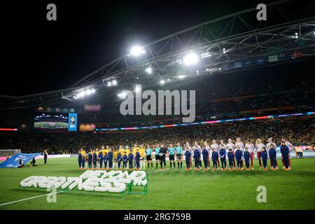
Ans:
{"type": "Polygon", "coordinates": [[[77,153],[80,148],[100,148],[101,146],[176,144],[187,141],[202,143],[212,139],[225,142],[229,138],[241,137],[243,142],[260,138],[267,141],[272,137],[279,145],[286,137],[294,146],[313,146],[315,118],[281,119],[273,121],[242,121],[187,127],[169,127],[153,130],[130,130],[113,132],[76,132],[76,133],[0,133],[1,149],[22,149],[23,153],[43,152],[50,154],[77,153]]]}

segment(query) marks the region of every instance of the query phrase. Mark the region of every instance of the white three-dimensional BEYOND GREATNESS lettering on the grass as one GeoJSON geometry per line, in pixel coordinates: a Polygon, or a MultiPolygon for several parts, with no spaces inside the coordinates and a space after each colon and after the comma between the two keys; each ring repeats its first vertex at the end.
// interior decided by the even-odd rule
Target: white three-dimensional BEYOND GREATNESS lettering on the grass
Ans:
{"type": "Polygon", "coordinates": [[[29,176],[20,182],[22,187],[34,188],[62,188],[72,190],[99,191],[121,193],[127,188],[127,184],[134,186],[146,186],[146,172],[134,171],[128,174],[127,171],[87,170],[79,177],[64,176],[29,176]]]}

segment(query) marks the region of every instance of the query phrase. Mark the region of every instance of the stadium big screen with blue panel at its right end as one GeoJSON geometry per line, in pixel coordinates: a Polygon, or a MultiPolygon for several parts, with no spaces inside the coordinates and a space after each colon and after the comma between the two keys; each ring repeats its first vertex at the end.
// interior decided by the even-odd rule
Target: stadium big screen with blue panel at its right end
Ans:
{"type": "Polygon", "coordinates": [[[68,132],[77,130],[76,113],[35,113],[34,131],[68,132]]]}

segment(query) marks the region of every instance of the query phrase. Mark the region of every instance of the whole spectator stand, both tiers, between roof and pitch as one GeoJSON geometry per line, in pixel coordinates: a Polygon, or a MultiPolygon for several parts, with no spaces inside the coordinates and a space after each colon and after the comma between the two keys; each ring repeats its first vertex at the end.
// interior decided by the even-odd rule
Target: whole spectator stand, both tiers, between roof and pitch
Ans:
{"type": "MultiPolygon", "coordinates": [[[[155,88],[196,90],[196,121],[315,111],[315,80],[311,73],[301,70],[300,66],[292,66],[292,72],[279,73],[275,76],[276,71],[268,73],[266,72],[268,69],[270,68],[259,69],[257,73],[241,71],[214,74],[155,88]],[[296,75],[297,73],[299,76],[296,75]]],[[[277,68],[272,67],[272,69],[277,68]]],[[[97,127],[182,123],[181,116],[122,116],[119,112],[121,102],[116,92],[113,92],[113,95],[105,99],[91,102],[91,104],[100,104],[102,111],[84,112],[82,108],[78,108],[79,123],[96,124],[97,127]]],[[[27,119],[31,117],[30,113],[19,113],[26,114],[27,119]]],[[[10,127],[10,123],[5,118],[6,116],[1,116],[2,126],[10,127]]],[[[177,141],[184,144],[189,141],[193,144],[193,141],[211,141],[211,139],[227,141],[228,138],[235,140],[236,137],[241,137],[244,141],[247,139],[255,141],[257,138],[266,141],[268,137],[273,137],[277,144],[281,137],[286,137],[295,146],[311,146],[315,142],[314,125],[314,116],[308,116],[157,130],[76,133],[1,132],[0,148],[21,148],[24,153],[47,149],[50,154],[58,154],[76,153],[80,147],[132,145],[136,142],[152,145],[174,144],[177,141]]]]}

